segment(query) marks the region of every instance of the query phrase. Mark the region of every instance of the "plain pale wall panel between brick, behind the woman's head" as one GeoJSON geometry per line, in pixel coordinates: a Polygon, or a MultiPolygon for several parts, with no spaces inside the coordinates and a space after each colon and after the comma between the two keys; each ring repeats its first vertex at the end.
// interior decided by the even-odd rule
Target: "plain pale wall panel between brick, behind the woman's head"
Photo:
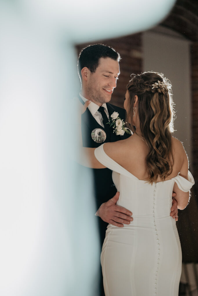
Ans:
{"type": "Polygon", "coordinates": [[[191,159],[190,41],[160,26],[143,33],[143,71],[164,73],[172,83],[176,119],[174,136],[191,159]]]}

